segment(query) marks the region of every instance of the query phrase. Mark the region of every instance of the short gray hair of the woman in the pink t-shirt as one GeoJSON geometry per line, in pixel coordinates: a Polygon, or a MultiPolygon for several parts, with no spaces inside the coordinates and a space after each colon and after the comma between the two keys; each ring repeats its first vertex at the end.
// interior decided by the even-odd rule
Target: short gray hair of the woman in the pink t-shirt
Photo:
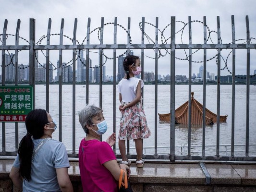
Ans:
{"type": "Polygon", "coordinates": [[[87,128],[87,125],[92,124],[92,118],[98,115],[100,112],[102,112],[101,108],[98,108],[94,105],[86,105],[85,108],[83,108],[78,116],[79,116],[79,122],[85,131],[85,133],[89,133],[89,130],[87,128]]]}

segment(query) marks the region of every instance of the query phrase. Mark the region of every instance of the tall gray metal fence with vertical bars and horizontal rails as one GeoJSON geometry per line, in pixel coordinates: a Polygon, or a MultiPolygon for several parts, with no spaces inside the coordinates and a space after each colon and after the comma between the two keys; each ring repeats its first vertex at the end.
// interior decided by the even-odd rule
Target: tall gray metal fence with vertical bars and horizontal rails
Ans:
{"type": "MultiPolygon", "coordinates": [[[[44,38],[47,39],[47,43],[46,45],[41,45],[41,41],[40,44],[38,44],[38,42],[36,43],[36,20],[35,19],[30,19],[30,31],[29,31],[29,41],[28,45],[19,45],[19,38],[21,38],[19,36],[19,30],[20,30],[20,20],[18,20],[17,23],[17,28],[16,28],[16,34],[15,36],[15,45],[6,45],[6,38],[8,36],[7,34],[7,24],[8,21],[5,20],[4,22],[4,28],[3,28],[3,33],[1,35],[1,41],[2,41],[2,45],[0,45],[0,49],[2,50],[2,85],[5,85],[5,52],[7,50],[15,50],[15,69],[16,69],[16,76],[15,76],[15,85],[18,85],[18,52],[19,50],[28,50],[29,51],[29,71],[30,71],[30,75],[29,75],[29,84],[32,85],[35,88],[35,63],[36,63],[36,51],[37,50],[46,50],[46,110],[49,111],[49,52],[51,50],[59,50],[59,61],[60,63],[62,63],[62,51],[63,50],[73,50],[73,60],[71,62],[72,66],[73,66],[73,77],[75,77],[75,73],[76,73],[76,65],[75,62],[77,60],[76,55],[77,55],[77,50],[86,50],[86,66],[89,66],[89,51],[90,50],[99,50],[99,62],[100,62],[100,66],[99,66],[99,107],[102,107],[102,65],[104,60],[102,60],[102,56],[104,55],[103,50],[105,49],[110,49],[113,51],[113,58],[109,58],[112,59],[113,62],[113,74],[116,74],[116,58],[118,58],[117,56],[117,50],[118,49],[125,49],[126,52],[125,53],[129,53],[130,49],[140,49],[141,50],[141,65],[142,65],[142,78],[144,76],[144,50],[145,49],[153,49],[155,50],[155,79],[158,79],[158,58],[161,55],[160,50],[165,50],[167,53],[169,53],[171,55],[171,60],[170,60],[170,66],[171,66],[171,108],[170,108],[170,112],[171,114],[175,113],[175,60],[176,60],[176,55],[175,55],[175,51],[176,49],[185,49],[189,51],[189,55],[187,56],[187,58],[185,60],[188,61],[189,63],[189,94],[188,94],[188,98],[189,98],[189,116],[188,116],[188,146],[186,149],[186,153],[182,152],[182,153],[175,153],[175,116],[172,115],[171,116],[171,124],[170,124],[170,153],[167,155],[160,155],[158,154],[158,126],[157,126],[157,121],[158,121],[158,108],[155,108],[155,127],[154,127],[154,131],[155,131],[155,146],[154,146],[154,150],[155,153],[154,154],[145,154],[144,157],[146,159],[170,159],[171,161],[175,161],[175,160],[256,160],[255,156],[249,156],[249,112],[250,112],[250,103],[249,103],[249,93],[250,93],[250,77],[252,75],[250,75],[250,50],[251,49],[255,49],[256,48],[256,44],[251,43],[251,37],[250,37],[250,30],[249,30],[249,19],[248,16],[246,16],[245,18],[245,22],[246,22],[246,32],[247,32],[247,36],[246,36],[246,43],[241,43],[238,44],[236,43],[236,38],[235,38],[235,22],[234,22],[234,16],[231,17],[231,22],[232,22],[232,43],[230,44],[223,44],[221,41],[221,37],[220,37],[220,22],[219,22],[219,17],[217,17],[217,28],[218,31],[216,32],[218,35],[218,43],[217,44],[207,44],[208,38],[207,37],[207,24],[206,24],[206,17],[203,18],[203,22],[201,22],[203,24],[203,30],[204,30],[204,43],[203,44],[192,44],[192,30],[191,30],[191,24],[193,22],[198,22],[198,21],[191,21],[191,17],[188,17],[188,23],[183,23],[184,27],[186,25],[188,25],[188,39],[189,39],[189,43],[188,44],[176,44],[175,41],[175,34],[176,34],[176,19],[175,17],[171,17],[171,23],[169,25],[171,25],[171,34],[170,37],[168,39],[171,39],[171,43],[167,43],[168,39],[162,39],[162,34],[163,31],[160,31],[158,29],[158,17],[156,18],[156,23],[153,25],[156,30],[155,30],[155,40],[152,40],[152,44],[145,43],[145,36],[148,38],[148,36],[145,33],[145,18],[142,18],[142,21],[140,23],[140,29],[141,29],[141,43],[140,44],[132,44],[131,42],[131,36],[130,36],[130,26],[131,26],[131,20],[130,18],[128,18],[128,29],[126,30],[124,27],[122,27],[122,25],[117,23],[117,18],[114,19],[114,23],[107,23],[107,24],[113,24],[114,26],[114,42],[112,44],[103,44],[103,29],[104,26],[107,25],[104,23],[104,18],[101,19],[101,26],[94,29],[98,30],[98,38],[100,43],[99,44],[90,44],[90,34],[91,34],[91,29],[90,29],[90,25],[91,25],[91,19],[88,18],[87,21],[87,35],[83,41],[82,44],[77,44],[77,19],[74,20],[74,27],[73,27],[73,37],[70,38],[73,42],[73,44],[69,44],[69,45],[63,45],[63,28],[64,28],[64,19],[61,20],[61,29],[60,29],[60,33],[58,34],[60,36],[60,41],[59,41],[59,45],[51,45],[50,44],[50,36],[54,35],[51,34],[51,19],[49,19],[49,24],[48,24],[48,32],[47,32],[47,36],[45,36],[44,38]],[[117,44],[117,27],[121,26],[127,33],[127,44],[117,44]],[[158,34],[159,32],[161,33],[161,43],[158,42],[158,34]],[[85,42],[85,44],[84,44],[85,42]],[[191,153],[191,77],[192,77],[192,50],[197,50],[197,49],[203,49],[204,50],[204,60],[203,60],[203,65],[204,65],[204,78],[203,78],[203,138],[202,138],[202,146],[201,146],[201,155],[193,155],[191,153]],[[216,141],[216,155],[215,156],[206,156],[206,145],[205,145],[205,134],[206,134],[206,66],[207,66],[207,49],[216,49],[217,50],[217,66],[218,66],[218,74],[217,74],[217,141],[216,141]],[[231,140],[231,149],[230,149],[230,155],[229,156],[220,156],[219,152],[220,152],[220,144],[219,144],[219,111],[220,111],[220,60],[221,60],[221,50],[222,49],[230,49],[232,51],[232,140],[231,140]],[[244,156],[234,156],[234,116],[235,116],[235,50],[236,49],[246,49],[247,50],[247,63],[246,63],[246,143],[245,143],[245,153],[244,156]]],[[[169,26],[168,25],[168,26],[169,26]]],[[[165,29],[164,29],[165,30],[165,29]]],[[[209,31],[209,29],[208,29],[209,31]]],[[[56,35],[56,34],[55,34],[56,35]]],[[[184,34],[183,34],[184,35],[184,34]]],[[[124,53],[124,54],[125,54],[124,53]]],[[[167,54],[166,53],[166,54],[167,54]]],[[[61,72],[59,74],[59,79],[61,79],[61,72]]],[[[86,104],[89,103],[89,68],[86,67],[86,104]]],[[[116,101],[116,77],[113,78],[113,101],[116,101]]],[[[76,100],[76,95],[75,95],[75,78],[73,78],[73,108],[72,108],[72,120],[73,120],[73,150],[72,153],[69,153],[68,155],[70,157],[77,157],[77,153],[76,153],[76,149],[75,149],[75,100],[76,100]]],[[[59,134],[59,140],[62,141],[62,83],[61,81],[59,81],[59,127],[60,127],[60,134],[59,134]]],[[[34,92],[34,102],[35,102],[35,92],[34,92]]],[[[155,83],[155,106],[158,105],[158,81],[156,81],[155,83]]],[[[35,103],[34,105],[35,106],[35,103]]],[[[113,132],[116,132],[116,104],[115,102],[113,102],[113,132]]],[[[5,123],[2,123],[2,151],[0,152],[1,156],[14,156],[17,153],[17,149],[18,149],[18,123],[15,123],[15,149],[16,151],[13,152],[7,152],[6,151],[6,133],[5,133],[5,123]]],[[[116,150],[115,146],[114,146],[114,151],[116,150]]],[[[129,149],[129,141],[127,142],[127,153],[128,153],[128,157],[129,158],[136,158],[136,156],[134,154],[130,154],[129,153],[130,149],[129,149]]],[[[117,157],[120,157],[119,154],[117,154],[117,157]]]]}

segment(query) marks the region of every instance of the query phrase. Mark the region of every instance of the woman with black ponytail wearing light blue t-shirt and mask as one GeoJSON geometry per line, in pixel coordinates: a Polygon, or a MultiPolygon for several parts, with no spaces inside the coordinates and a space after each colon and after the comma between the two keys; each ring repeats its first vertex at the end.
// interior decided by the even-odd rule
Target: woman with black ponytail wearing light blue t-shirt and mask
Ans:
{"type": "Polygon", "coordinates": [[[19,144],[10,178],[23,192],[73,192],[64,144],[51,139],[57,124],[44,109],[34,109],[25,120],[27,134],[19,144]]]}

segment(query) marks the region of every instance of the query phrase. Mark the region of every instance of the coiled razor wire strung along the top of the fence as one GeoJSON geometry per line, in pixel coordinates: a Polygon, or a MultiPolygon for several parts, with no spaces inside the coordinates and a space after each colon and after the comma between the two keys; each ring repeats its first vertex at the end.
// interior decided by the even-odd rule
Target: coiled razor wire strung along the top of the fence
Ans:
{"type": "MultiPolygon", "coordinates": [[[[153,27],[155,27],[155,28],[157,28],[154,24],[151,24],[151,23],[149,23],[149,22],[144,22],[144,23],[145,23],[145,24],[148,24],[148,25],[151,25],[151,26],[153,26],[153,27]]],[[[182,44],[183,44],[183,32],[184,32],[185,27],[188,26],[188,23],[185,23],[185,22],[183,22],[183,21],[176,21],[175,23],[181,23],[181,24],[183,24],[183,27],[180,28],[177,32],[175,32],[175,34],[181,33],[181,42],[182,42],[182,44]]],[[[191,21],[191,23],[204,24],[202,21],[199,21],[199,20],[193,20],[193,21],[191,21]]],[[[103,24],[103,25],[106,26],[106,25],[109,25],[109,24],[114,24],[114,23],[105,23],[105,24],[103,24]]],[[[128,32],[128,30],[127,30],[125,27],[123,27],[121,24],[116,24],[116,25],[119,26],[119,27],[121,27],[121,28],[127,33],[127,36],[129,37],[129,44],[132,44],[132,38],[131,38],[131,35],[130,35],[130,33],[128,32]]],[[[166,37],[163,35],[164,32],[165,32],[165,30],[167,30],[167,28],[168,28],[170,25],[171,25],[171,23],[170,23],[170,24],[167,24],[167,25],[164,27],[164,29],[163,29],[162,31],[158,28],[158,31],[159,31],[160,34],[161,34],[161,42],[162,42],[162,44],[168,44],[168,40],[171,39],[171,36],[169,36],[168,38],[166,38],[166,37]]],[[[208,36],[207,36],[206,42],[208,42],[208,41],[210,40],[210,42],[213,44],[213,40],[212,40],[212,38],[211,38],[211,34],[212,34],[212,33],[217,34],[217,32],[214,31],[214,30],[210,30],[210,28],[209,28],[207,25],[206,25],[206,27],[207,27],[207,31],[208,31],[208,36]]],[[[146,36],[146,39],[147,39],[147,41],[148,41],[149,44],[156,44],[156,43],[154,42],[154,40],[153,40],[149,35],[146,34],[145,30],[142,29],[142,22],[139,23],[139,28],[140,28],[141,32],[143,33],[143,35],[146,36]]],[[[100,41],[99,33],[100,33],[100,31],[101,31],[101,27],[96,27],[95,29],[93,29],[93,30],[89,33],[89,35],[92,34],[92,33],[94,33],[94,32],[97,31],[97,30],[98,30],[98,40],[100,41]]],[[[1,36],[2,36],[2,34],[0,34],[0,41],[2,42],[1,36]]],[[[6,39],[8,38],[8,36],[15,36],[15,35],[6,34],[6,39]]],[[[60,34],[55,33],[55,34],[50,34],[49,36],[60,36],[60,34]]],[[[73,42],[73,38],[71,38],[71,37],[69,37],[69,36],[66,36],[66,35],[63,35],[63,36],[73,42]]],[[[21,38],[21,39],[23,39],[25,42],[27,42],[27,43],[29,44],[28,40],[26,40],[25,38],[23,38],[23,37],[21,37],[21,36],[18,36],[18,37],[21,38]]],[[[45,35],[41,36],[35,45],[38,45],[38,44],[41,45],[42,41],[43,41],[46,37],[47,37],[47,36],[45,36],[45,35]]],[[[85,42],[86,38],[87,38],[87,36],[85,36],[85,38],[83,39],[83,41],[82,41],[81,44],[79,43],[78,40],[76,40],[77,44],[78,44],[78,45],[84,45],[84,42],[85,42]]],[[[251,43],[252,43],[252,39],[256,40],[256,38],[251,37],[251,38],[249,39],[251,43]]],[[[237,39],[237,40],[235,40],[235,42],[237,42],[237,41],[242,41],[242,40],[246,40],[246,39],[237,39]]],[[[220,38],[220,41],[221,41],[221,43],[222,43],[222,39],[221,39],[221,38],[220,38]]],[[[246,43],[246,41],[245,41],[244,43],[246,43]]],[[[229,43],[229,44],[231,44],[231,43],[229,43]]],[[[153,50],[154,50],[154,49],[153,49],[153,50]]],[[[161,52],[161,51],[162,51],[161,49],[157,49],[157,50],[158,50],[158,53],[159,53],[157,59],[159,59],[160,57],[165,57],[165,56],[167,56],[167,54],[171,55],[171,53],[168,51],[167,48],[164,48],[165,53],[162,53],[162,52],[161,52]]],[[[184,58],[175,57],[175,58],[176,58],[177,60],[187,60],[187,61],[188,61],[188,60],[189,60],[189,59],[188,59],[189,56],[188,56],[188,54],[187,54],[187,51],[186,51],[186,49],[183,49],[183,50],[184,50],[185,57],[184,57],[184,58]]],[[[192,55],[195,54],[195,53],[196,53],[197,51],[199,51],[199,50],[200,50],[200,49],[196,49],[194,52],[192,52],[192,55]]],[[[222,50],[222,49],[220,49],[220,51],[221,51],[221,50],[222,50]]],[[[19,52],[19,51],[21,51],[21,50],[18,50],[18,52],[19,52]]],[[[83,49],[76,49],[76,51],[75,51],[75,55],[76,55],[75,61],[79,59],[79,60],[81,61],[81,63],[86,67],[86,63],[85,63],[84,60],[80,57],[81,51],[84,51],[84,50],[83,50],[83,49]]],[[[154,50],[154,51],[155,51],[155,50],[154,50]]],[[[11,59],[10,59],[10,62],[9,62],[9,63],[5,64],[5,67],[8,67],[8,66],[10,66],[10,65],[15,66],[14,63],[13,63],[13,57],[14,57],[15,54],[10,54],[9,50],[7,50],[7,52],[8,52],[9,57],[10,57],[11,59]]],[[[43,50],[41,50],[41,52],[42,52],[43,56],[46,58],[46,55],[45,55],[45,53],[43,52],[43,50]]],[[[94,51],[89,51],[89,52],[97,53],[97,52],[94,52],[94,51]]],[[[127,49],[125,52],[123,52],[121,55],[117,56],[116,58],[122,57],[123,55],[125,55],[125,54],[127,54],[127,53],[128,53],[128,49],[127,49]]],[[[225,64],[225,66],[224,66],[223,68],[221,68],[220,70],[225,70],[225,69],[226,69],[226,70],[232,75],[232,72],[231,72],[230,69],[228,68],[228,58],[229,58],[229,56],[230,56],[231,53],[232,53],[232,50],[229,52],[229,54],[228,54],[228,56],[227,56],[226,59],[224,59],[223,56],[220,54],[220,57],[221,57],[221,59],[223,60],[223,62],[224,62],[224,64],[225,64]]],[[[98,53],[98,54],[99,54],[99,53],[98,53]]],[[[105,57],[105,61],[102,63],[102,66],[106,64],[107,60],[113,60],[113,59],[115,59],[114,57],[108,57],[103,51],[102,51],[102,56],[105,57]]],[[[210,61],[210,60],[213,60],[214,58],[216,58],[216,64],[217,64],[217,66],[218,66],[218,58],[217,58],[217,56],[218,56],[218,54],[212,56],[211,58],[207,59],[206,61],[210,61]]],[[[146,57],[148,57],[148,58],[150,58],[150,59],[155,59],[155,58],[150,57],[150,56],[146,56],[146,57]]],[[[45,67],[44,65],[42,65],[42,64],[39,62],[39,59],[37,58],[37,54],[36,54],[36,56],[35,56],[35,59],[37,60],[37,63],[38,63],[41,67],[43,67],[43,68],[46,69],[46,67],[45,67]]],[[[202,61],[202,60],[192,60],[192,63],[202,63],[202,62],[204,62],[204,61],[202,61]]],[[[57,66],[57,67],[56,67],[50,60],[49,60],[49,63],[54,67],[53,69],[49,69],[49,70],[54,71],[54,70],[57,70],[57,69],[60,69],[60,68],[66,68],[66,67],[69,67],[69,66],[73,65],[73,59],[69,60],[67,63],[64,63],[64,64],[62,63],[62,64],[60,64],[60,65],[57,66]]],[[[0,66],[2,66],[2,65],[0,65],[0,66]]],[[[25,67],[24,67],[24,66],[20,66],[20,65],[18,66],[19,69],[25,69],[25,68],[28,68],[28,67],[29,67],[29,64],[28,64],[27,66],[25,66],[25,67]]],[[[95,66],[95,67],[90,67],[90,66],[88,66],[88,68],[91,68],[91,69],[95,69],[95,68],[99,68],[99,67],[100,67],[100,66],[95,66]]],[[[256,76],[256,74],[250,75],[251,78],[254,77],[254,76],[256,76]]],[[[235,75],[235,77],[236,77],[236,78],[246,79],[246,77],[240,77],[240,76],[238,76],[238,75],[235,75]]]]}

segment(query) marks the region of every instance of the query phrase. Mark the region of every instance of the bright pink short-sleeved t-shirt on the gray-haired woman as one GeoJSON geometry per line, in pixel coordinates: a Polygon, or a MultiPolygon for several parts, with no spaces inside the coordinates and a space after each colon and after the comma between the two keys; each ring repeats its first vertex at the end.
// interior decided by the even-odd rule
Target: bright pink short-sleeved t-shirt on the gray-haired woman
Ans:
{"type": "Polygon", "coordinates": [[[116,160],[108,143],[83,139],[78,157],[84,192],[117,192],[116,180],[103,165],[107,161],[116,160]]]}

